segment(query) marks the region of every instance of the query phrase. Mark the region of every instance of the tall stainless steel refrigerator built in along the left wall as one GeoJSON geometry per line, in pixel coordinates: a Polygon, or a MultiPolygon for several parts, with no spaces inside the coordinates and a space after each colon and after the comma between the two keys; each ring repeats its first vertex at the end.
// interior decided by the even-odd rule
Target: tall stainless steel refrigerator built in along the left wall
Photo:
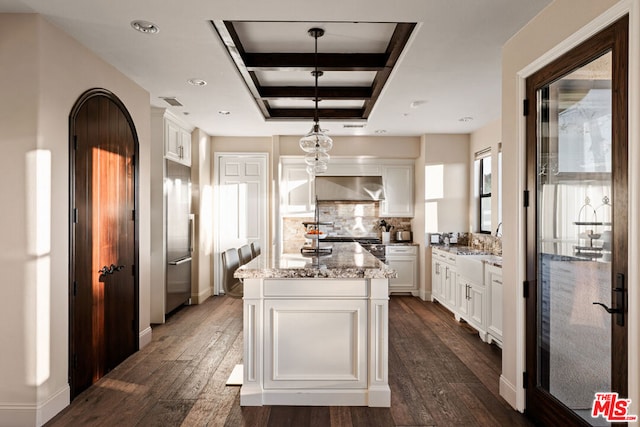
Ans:
{"type": "Polygon", "coordinates": [[[191,299],[191,253],[193,216],[191,215],[191,168],[166,160],[166,296],[165,313],[191,299]]]}

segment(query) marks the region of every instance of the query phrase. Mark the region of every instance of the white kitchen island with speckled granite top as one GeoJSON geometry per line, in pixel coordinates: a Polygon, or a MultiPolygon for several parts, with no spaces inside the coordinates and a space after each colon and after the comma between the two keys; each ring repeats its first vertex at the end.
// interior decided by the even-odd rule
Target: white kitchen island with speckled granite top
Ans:
{"type": "Polygon", "coordinates": [[[242,406],[388,407],[388,288],[395,271],[357,243],[258,256],[244,281],[242,406]]]}

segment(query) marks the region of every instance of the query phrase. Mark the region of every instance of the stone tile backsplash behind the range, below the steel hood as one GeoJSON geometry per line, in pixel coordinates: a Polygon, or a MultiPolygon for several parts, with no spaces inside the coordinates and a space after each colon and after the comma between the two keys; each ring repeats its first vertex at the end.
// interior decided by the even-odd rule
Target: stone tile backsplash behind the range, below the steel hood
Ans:
{"type": "MultiPolygon", "coordinates": [[[[380,219],[391,225],[392,232],[411,231],[411,218],[380,218],[379,202],[322,202],[318,205],[320,222],[332,222],[322,226],[322,231],[338,236],[381,238],[380,219]]],[[[283,241],[285,250],[298,248],[304,243],[303,222],[312,222],[313,217],[284,217],[283,241]]]]}

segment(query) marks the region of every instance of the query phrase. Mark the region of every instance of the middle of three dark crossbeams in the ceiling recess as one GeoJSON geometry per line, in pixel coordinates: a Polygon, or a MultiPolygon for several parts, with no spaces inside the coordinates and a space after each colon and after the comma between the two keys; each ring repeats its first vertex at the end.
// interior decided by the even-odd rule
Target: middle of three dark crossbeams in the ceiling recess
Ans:
{"type": "MultiPolygon", "coordinates": [[[[314,99],[315,88],[309,86],[261,86],[258,88],[262,99],[314,99]]],[[[318,87],[318,98],[320,99],[357,99],[366,100],[371,98],[370,86],[320,86],[318,87]]]]}

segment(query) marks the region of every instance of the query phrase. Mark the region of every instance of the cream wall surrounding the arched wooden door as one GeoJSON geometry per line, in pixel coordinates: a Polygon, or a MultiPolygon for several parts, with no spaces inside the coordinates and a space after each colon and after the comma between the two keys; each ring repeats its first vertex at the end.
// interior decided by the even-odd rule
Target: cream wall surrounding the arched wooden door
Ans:
{"type": "Polygon", "coordinates": [[[0,92],[11,100],[0,105],[10,203],[0,214],[0,425],[37,425],[69,403],[69,113],[93,87],[124,102],[138,133],[140,331],[150,332],[149,94],[37,15],[0,14],[0,40],[0,92]]]}

